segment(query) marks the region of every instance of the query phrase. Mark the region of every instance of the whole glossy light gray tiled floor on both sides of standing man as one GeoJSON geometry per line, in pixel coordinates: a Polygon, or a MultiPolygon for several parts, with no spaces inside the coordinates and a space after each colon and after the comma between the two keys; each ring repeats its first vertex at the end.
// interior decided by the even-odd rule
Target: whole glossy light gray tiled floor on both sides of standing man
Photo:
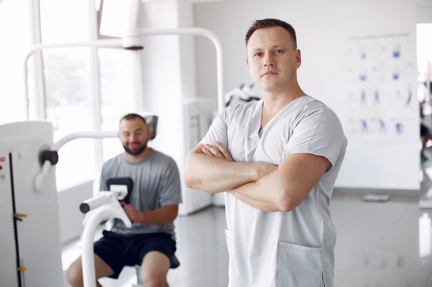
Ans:
{"type": "MultiPolygon", "coordinates": [[[[423,198],[432,187],[432,160],[424,167],[423,198]]],[[[363,202],[359,193],[338,191],[331,211],[337,227],[335,287],[432,286],[432,209],[419,208],[418,191],[393,195],[389,202],[363,202]]],[[[175,224],[181,266],[168,273],[170,286],[227,286],[224,209],[178,217],[175,224]]],[[[135,280],[130,268],[119,281],[102,283],[126,287],[135,280]]]]}

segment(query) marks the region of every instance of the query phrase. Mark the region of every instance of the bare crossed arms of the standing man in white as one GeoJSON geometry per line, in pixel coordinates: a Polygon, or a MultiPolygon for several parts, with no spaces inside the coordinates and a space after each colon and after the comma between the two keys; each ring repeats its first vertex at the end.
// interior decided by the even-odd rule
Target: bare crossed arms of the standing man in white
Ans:
{"type": "Polygon", "coordinates": [[[309,153],[288,153],[279,167],[264,162],[234,162],[219,142],[198,145],[186,159],[186,186],[227,191],[262,211],[291,211],[326,172],[330,162],[309,153]]]}

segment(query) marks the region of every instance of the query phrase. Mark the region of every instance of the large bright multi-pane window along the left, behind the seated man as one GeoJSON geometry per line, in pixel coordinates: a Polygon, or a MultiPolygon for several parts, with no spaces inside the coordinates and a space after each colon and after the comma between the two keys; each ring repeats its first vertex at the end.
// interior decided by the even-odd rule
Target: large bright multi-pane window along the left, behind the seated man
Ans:
{"type": "MultiPolygon", "coordinates": [[[[98,3],[96,1],[97,6],[98,3]]],[[[129,9],[130,3],[123,7],[129,9]]],[[[23,55],[30,47],[30,12],[28,1],[0,0],[0,39],[3,41],[0,45],[0,102],[6,103],[0,105],[0,125],[26,120],[23,55]]],[[[130,14],[123,17],[130,19],[130,14]]],[[[40,19],[43,44],[89,39],[88,0],[40,0],[40,19]]],[[[108,17],[106,25],[115,27],[110,22],[115,20],[108,17]]],[[[96,56],[88,47],[65,47],[43,49],[41,54],[43,67],[39,67],[39,71],[43,71],[44,115],[54,127],[54,142],[77,131],[116,130],[119,118],[134,110],[135,52],[99,48],[96,56]],[[99,74],[94,80],[90,65],[98,62],[99,74]],[[94,92],[95,86],[99,87],[99,93],[94,92]]],[[[32,64],[28,63],[28,67],[32,64]]],[[[32,105],[30,119],[35,119],[30,70],[27,76],[32,105]]],[[[102,162],[121,151],[118,139],[68,142],[59,151],[57,189],[61,191],[94,179],[102,162]]]]}

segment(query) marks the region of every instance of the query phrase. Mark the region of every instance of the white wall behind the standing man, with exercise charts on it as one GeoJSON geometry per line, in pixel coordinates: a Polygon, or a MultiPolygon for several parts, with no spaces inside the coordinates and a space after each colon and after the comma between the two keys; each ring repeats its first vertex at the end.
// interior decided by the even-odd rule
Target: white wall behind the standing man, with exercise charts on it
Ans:
{"type": "MultiPolygon", "coordinates": [[[[353,83],[352,79],[349,82],[346,77],[349,69],[357,69],[355,63],[351,67],[353,61],[347,58],[351,47],[366,45],[379,52],[381,45],[389,50],[394,41],[400,41],[403,61],[410,63],[412,69],[411,73],[404,75],[402,92],[408,93],[409,87],[416,87],[415,0],[237,0],[197,3],[195,25],[213,30],[222,42],[226,91],[241,83],[251,83],[244,60],[244,34],[251,21],[264,18],[283,19],[294,26],[302,50],[300,85],[306,93],[333,108],[342,120],[349,143],[337,187],[418,189],[420,159],[415,96],[409,107],[397,106],[393,99],[392,105],[385,107],[353,110],[349,93],[353,91],[353,84],[357,85],[355,89],[360,88],[360,84],[353,83]],[[382,116],[389,125],[389,136],[355,135],[350,120],[361,116],[369,119],[382,116]],[[390,125],[397,120],[404,123],[403,138],[397,137],[394,132],[390,134],[390,129],[393,129],[390,125]]],[[[196,51],[197,93],[213,98],[216,93],[215,69],[208,61],[213,50],[203,41],[197,41],[196,51]]],[[[375,55],[375,61],[367,63],[368,69],[379,61],[382,59],[375,55]]],[[[364,85],[369,92],[378,86],[395,98],[396,87],[389,80],[375,78],[364,85]]]]}

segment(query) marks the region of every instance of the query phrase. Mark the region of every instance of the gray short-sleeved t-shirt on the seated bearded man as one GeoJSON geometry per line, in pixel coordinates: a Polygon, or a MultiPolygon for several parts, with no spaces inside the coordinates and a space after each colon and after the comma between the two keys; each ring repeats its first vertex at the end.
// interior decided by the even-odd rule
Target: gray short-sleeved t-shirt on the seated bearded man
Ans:
{"type": "MultiPolygon", "coordinates": [[[[181,203],[177,164],[173,158],[155,149],[138,163],[127,162],[124,153],[111,158],[102,167],[101,191],[108,190],[108,178],[132,178],[129,204],[138,211],[153,211],[162,206],[181,203]]],[[[111,231],[123,235],[164,232],[175,238],[173,222],[164,225],[132,223],[132,227],[127,228],[121,220],[116,219],[111,231]]]]}

